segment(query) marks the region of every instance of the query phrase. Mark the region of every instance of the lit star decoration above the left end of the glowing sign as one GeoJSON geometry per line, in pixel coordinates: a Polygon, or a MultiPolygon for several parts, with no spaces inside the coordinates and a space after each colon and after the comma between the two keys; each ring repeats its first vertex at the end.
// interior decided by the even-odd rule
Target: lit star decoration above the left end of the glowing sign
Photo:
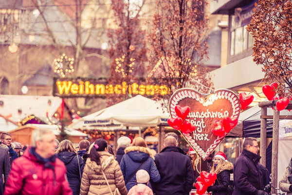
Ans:
{"type": "Polygon", "coordinates": [[[65,74],[74,72],[73,58],[68,58],[63,54],[60,58],[54,60],[55,63],[55,73],[59,73],[62,77],[65,77],[65,74]]]}

